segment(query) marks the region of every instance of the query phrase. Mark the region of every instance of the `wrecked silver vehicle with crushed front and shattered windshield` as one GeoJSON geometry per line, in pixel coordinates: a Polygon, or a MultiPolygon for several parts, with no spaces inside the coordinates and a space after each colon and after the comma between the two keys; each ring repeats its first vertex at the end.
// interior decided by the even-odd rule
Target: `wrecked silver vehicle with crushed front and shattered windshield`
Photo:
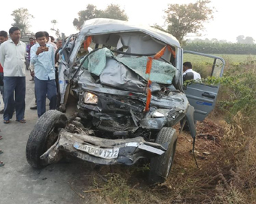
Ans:
{"type": "MultiPolygon", "coordinates": [[[[194,118],[182,89],[178,40],[154,28],[93,19],[66,40],[59,54],[60,109],[69,109],[73,98],[78,110],[72,118],[50,110],[38,119],[26,146],[29,164],[41,168],[67,154],[106,165],[148,158],[149,180],[164,181],[177,142],[173,126],[185,118],[195,138],[194,120],[205,112],[197,107],[201,118],[194,118]]],[[[197,101],[213,108],[218,91],[201,91],[205,96],[197,101]]]]}

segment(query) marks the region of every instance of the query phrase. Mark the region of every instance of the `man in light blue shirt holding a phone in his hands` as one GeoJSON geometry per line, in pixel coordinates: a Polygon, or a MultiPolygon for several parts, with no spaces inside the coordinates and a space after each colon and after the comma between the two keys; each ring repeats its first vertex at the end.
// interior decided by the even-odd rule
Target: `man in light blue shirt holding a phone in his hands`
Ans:
{"type": "Polygon", "coordinates": [[[56,109],[54,50],[47,44],[44,31],[38,31],[35,38],[38,43],[31,48],[31,63],[35,66],[35,95],[40,117],[45,113],[46,94],[50,110],[56,109]]]}

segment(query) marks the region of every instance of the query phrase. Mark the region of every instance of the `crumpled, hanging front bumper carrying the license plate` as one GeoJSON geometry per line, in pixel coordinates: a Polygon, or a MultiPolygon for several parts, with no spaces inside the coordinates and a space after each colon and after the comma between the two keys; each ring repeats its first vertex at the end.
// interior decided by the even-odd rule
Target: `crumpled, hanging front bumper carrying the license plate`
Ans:
{"type": "Polygon", "coordinates": [[[97,164],[132,165],[139,158],[163,154],[167,145],[146,142],[141,136],[130,139],[102,139],[85,133],[69,133],[62,129],[58,140],[41,155],[41,159],[46,163],[56,163],[64,154],[70,154],[97,164]]]}

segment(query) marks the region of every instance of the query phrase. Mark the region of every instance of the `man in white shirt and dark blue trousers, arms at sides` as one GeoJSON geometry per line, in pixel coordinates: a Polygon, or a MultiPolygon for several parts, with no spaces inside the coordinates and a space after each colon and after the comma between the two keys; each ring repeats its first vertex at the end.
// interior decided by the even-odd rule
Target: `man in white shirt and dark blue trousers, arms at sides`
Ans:
{"type": "Polygon", "coordinates": [[[4,123],[10,122],[16,110],[16,120],[26,123],[25,95],[26,95],[26,44],[20,41],[20,28],[11,27],[11,39],[0,46],[0,62],[4,68],[5,110],[4,123]],[[15,93],[14,93],[15,91],[15,93]],[[15,95],[15,100],[14,100],[15,95]]]}

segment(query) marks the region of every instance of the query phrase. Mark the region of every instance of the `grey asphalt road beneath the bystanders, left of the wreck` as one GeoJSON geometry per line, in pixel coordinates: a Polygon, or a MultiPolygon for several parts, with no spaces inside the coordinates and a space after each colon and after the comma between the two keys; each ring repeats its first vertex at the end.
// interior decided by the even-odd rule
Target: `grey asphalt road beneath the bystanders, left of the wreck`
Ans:
{"type": "Polygon", "coordinates": [[[5,162],[0,167],[0,203],[90,203],[79,193],[90,176],[90,164],[72,161],[33,169],[26,161],[26,142],[38,119],[36,110],[29,109],[35,105],[34,83],[30,79],[26,71],[26,124],[15,121],[15,115],[10,124],[4,124],[0,115],[0,148],[4,151],[0,160],[5,162]]]}

